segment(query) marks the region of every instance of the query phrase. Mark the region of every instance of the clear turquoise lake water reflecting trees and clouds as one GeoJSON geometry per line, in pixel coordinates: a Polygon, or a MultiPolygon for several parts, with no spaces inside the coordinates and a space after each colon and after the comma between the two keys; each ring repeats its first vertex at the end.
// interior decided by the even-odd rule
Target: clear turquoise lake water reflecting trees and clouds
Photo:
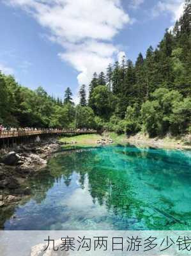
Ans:
{"type": "Polygon", "coordinates": [[[61,152],[32,179],[7,230],[191,230],[191,152],[111,146],[61,152]]]}

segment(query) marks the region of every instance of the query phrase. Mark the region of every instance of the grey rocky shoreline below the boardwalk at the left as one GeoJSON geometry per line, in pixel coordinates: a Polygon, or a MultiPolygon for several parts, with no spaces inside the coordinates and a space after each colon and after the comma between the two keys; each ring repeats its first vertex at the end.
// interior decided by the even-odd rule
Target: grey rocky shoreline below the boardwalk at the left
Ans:
{"type": "Polygon", "coordinates": [[[31,195],[27,180],[47,165],[47,159],[61,144],[50,139],[0,150],[0,209],[31,195]]]}

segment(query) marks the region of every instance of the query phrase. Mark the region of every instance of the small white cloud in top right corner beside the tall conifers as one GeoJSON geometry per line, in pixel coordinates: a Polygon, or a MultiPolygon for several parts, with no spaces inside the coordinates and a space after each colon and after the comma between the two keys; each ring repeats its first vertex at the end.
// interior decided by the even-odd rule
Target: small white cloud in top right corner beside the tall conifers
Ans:
{"type": "Polygon", "coordinates": [[[172,22],[180,19],[183,14],[185,0],[162,0],[153,9],[153,15],[158,16],[160,13],[168,12],[172,15],[172,22]]]}

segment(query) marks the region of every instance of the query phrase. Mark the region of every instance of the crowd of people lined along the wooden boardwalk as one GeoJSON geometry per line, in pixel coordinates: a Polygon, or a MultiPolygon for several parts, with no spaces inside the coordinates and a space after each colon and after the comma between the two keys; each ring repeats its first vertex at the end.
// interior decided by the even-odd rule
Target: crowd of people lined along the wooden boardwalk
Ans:
{"type": "Polygon", "coordinates": [[[60,131],[65,131],[65,132],[93,132],[93,129],[53,129],[53,128],[33,128],[33,127],[24,127],[24,128],[15,128],[15,127],[5,127],[4,125],[0,125],[0,134],[2,132],[29,132],[29,131],[46,131],[46,132],[60,132],[60,131]]]}

